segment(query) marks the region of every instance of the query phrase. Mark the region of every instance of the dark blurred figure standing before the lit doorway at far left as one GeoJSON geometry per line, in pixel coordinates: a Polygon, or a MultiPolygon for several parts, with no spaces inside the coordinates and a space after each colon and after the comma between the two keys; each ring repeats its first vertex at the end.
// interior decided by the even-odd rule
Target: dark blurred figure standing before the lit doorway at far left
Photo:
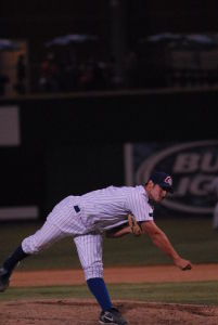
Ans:
{"type": "Polygon", "coordinates": [[[23,54],[18,55],[16,63],[16,83],[14,89],[17,93],[24,94],[26,92],[26,65],[25,56],[23,54]]]}

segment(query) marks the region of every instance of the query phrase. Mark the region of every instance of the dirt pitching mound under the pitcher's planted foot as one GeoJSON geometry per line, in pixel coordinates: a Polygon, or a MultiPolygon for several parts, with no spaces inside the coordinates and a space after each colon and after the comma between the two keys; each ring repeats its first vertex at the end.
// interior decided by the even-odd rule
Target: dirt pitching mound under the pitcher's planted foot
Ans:
{"type": "MultiPolygon", "coordinates": [[[[193,304],[114,301],[129,325],[217,325],[218,308],[193,304]]],[[[99,324],[93,300],[33,300],[2,302],[1,325],[99,324]]]]}

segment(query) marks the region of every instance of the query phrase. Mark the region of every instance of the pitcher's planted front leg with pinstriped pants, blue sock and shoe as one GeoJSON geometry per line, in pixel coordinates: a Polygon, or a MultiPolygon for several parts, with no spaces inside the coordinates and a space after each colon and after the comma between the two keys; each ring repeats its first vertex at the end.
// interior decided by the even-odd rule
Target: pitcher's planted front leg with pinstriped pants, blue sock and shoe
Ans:
{"type": "Polygon", "coordinates": [[[102,309],[100,324],[127,324],[119,311],[113,307],[103,280],[102,236],[100,234],[87,234],[75,237],[74,242],[87,285],[102,309]]]}

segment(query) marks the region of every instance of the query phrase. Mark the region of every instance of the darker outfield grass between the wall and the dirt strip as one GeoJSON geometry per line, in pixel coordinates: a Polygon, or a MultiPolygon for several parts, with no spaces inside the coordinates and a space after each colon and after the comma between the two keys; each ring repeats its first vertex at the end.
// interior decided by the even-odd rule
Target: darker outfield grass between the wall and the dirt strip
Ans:
{"type": "MultiPolygon", "coordinates": [[[[211,229],[211,220],[203,218],[165,219],[157,224],[167,234],[178,252],[193,263],[218,262],[218,232],[211,229]]],[[[39,229],[39,223],[0,224],[0,262],[17,247],[22,239],[39,229]]],[[[146,265],[171,263],[146,236],[126,236],[104,239],[104,265],[146,265]]],[[[70,237],[55,243],[24,263],[21,270],[79,268],[75,245],[70,237]]]]}

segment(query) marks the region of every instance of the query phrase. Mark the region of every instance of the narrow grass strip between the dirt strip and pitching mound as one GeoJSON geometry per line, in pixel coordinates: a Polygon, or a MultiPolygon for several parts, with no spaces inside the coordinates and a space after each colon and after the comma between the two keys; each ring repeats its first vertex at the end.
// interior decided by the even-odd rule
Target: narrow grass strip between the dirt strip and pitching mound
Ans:
{"type": "MultiPolygon", "coordinates": [[[[218,282],[108,284],[112,299],[218,306],[218,282]]],[[[93,299],[86,285],[9,288],[0,301],[20,299],[93,299]]]]}

